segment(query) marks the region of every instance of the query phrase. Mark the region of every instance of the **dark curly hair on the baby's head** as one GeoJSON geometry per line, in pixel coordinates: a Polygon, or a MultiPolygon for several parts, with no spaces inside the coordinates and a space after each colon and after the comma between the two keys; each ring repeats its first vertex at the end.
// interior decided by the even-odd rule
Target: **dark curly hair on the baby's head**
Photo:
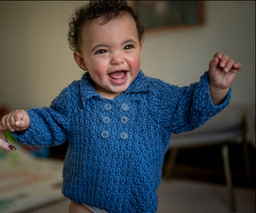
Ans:
{"type": "Polygon", "coordinates": [[[76,9],[73,18],[69,22],[68,43],[72,51],[78,51],[78,37],[84,22],[104,17],[102,25],[116,18],[120,12],[128,12],[136,23],[139,40],[142,39],[144,28],[139,20],[138,12],[135,12],[124,0],[99,0],[90,1],[76,9]]]}

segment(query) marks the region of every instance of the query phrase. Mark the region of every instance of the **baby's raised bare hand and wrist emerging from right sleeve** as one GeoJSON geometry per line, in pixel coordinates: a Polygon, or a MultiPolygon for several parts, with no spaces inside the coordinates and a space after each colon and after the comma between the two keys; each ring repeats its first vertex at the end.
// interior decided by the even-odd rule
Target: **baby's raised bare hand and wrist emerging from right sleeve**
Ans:
{"type": "Polygon", "coordinates": [[[241,67],[240,62],[235,63],[228,55],[220,52],[214,55],[209,65],[210,93],[214,105],[219,105],[225,99],[241,67]]]}

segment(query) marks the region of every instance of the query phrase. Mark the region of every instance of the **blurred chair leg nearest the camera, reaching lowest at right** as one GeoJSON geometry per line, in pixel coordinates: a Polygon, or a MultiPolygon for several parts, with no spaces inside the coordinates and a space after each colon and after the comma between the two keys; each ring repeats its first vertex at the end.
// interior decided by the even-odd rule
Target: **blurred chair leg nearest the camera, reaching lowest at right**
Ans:
{"type": "Polygon", "coordinates": [[[229,157],[228,157],[228,144],[224,144],[221,149],[222,159],[224,163],[225,177],[228,185],[228,201],[229,208],[231,211],[236,211],[236,201],[235,201],[235,193],[232,185],[232,177],[229,166],[229,157]]]}

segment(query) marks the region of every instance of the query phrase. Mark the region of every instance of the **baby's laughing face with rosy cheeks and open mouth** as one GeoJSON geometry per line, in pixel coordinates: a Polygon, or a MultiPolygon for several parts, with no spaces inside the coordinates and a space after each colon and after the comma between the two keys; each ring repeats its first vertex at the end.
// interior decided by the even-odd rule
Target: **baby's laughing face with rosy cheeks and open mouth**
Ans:
{"type": "MultiPolygon", "coordinates": [[[[79,50],[101,97],[115,99],[133,82],[140,71],[137,28],[132,16],[123,13],[108,23],[102,18],[85,23],[81,29],[79,50]]],[[[80,66],[81,67],[81,66],[80,66]]]]}

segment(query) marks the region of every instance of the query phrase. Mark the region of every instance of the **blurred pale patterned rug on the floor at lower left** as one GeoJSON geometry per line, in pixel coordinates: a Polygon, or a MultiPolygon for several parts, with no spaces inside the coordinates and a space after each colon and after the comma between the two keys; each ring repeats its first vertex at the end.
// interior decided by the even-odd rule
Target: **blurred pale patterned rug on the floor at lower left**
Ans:
{"type": "Polygon", "coordinates": [[[63,199],[63,161],[36,158],[21,146],[12,154],[0,150],[0,213],[34,209],[63,199]]]}

